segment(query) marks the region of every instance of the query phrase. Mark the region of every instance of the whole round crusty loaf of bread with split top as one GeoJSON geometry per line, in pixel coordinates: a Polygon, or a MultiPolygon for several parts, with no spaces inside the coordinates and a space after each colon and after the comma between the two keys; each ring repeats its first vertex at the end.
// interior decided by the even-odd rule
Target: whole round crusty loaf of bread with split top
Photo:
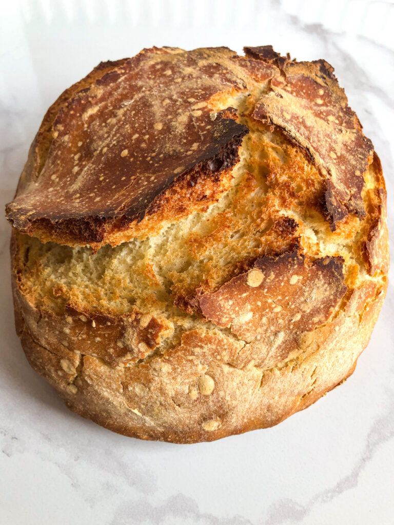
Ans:
{"type": "Polygon", "coordinates": [[[29,363],[121,434],[281,422],[354,371],[385,297],[385,182],[333,68],[244,51],[100,64],[6,208],[29,363]]]}

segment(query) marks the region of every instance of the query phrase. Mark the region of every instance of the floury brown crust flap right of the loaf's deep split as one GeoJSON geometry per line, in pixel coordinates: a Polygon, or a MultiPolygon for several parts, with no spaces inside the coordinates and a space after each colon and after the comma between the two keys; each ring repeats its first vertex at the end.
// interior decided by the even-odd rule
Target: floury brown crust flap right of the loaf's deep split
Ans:
{"type": "Polygon", "coordinates": [[[283,73],[257,102],[253,117],[280,128],[299,144],[327,179],[322,207],[331,229],[349,213],[365,217],[361,190],[374,151],[348,106],[347,97],[325,60],[295,62],[271,46],[245,52],[283,73]]]}

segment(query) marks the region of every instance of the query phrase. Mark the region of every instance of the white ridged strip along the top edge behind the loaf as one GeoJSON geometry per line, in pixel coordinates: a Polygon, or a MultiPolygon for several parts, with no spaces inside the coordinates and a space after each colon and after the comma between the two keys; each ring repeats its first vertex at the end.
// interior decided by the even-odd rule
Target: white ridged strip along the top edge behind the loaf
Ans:
{"type": "Polygon", "coordinates": [[[382,45],[392,44],[394,4],[379,0],[20,0],[20,10],[26,24],[95,24],[106,19],[111,25],[130,27],[165,24],[167,28],[196,28],[202,27],[203,20],[211,20],[214,28],[261,28],[272,8],[279,4],[282,13],[295,16],[306,25],[319,24],[331,31],[365,36],[382,45]]]}

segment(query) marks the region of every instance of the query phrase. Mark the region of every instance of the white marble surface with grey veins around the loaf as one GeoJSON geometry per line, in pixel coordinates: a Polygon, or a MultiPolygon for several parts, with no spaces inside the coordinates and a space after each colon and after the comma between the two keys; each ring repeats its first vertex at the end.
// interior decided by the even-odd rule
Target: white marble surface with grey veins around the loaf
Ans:
{"type": "MultiPolygon", "coordinates": [[[[153,44],[237,51],[273,44],[335,66],[381,157],[394,232],[391,3],[150,0],[107,9],[105,2],[47,0],[23,2],[22,14],[8,4],[0,2],[4,203],[45,109],[101,59],[153,44]]],[[[1,525],[394,522],[392,284],[355,374],[307,411],[211,444],[146,443],[68,412],[30,369],[14,332],[8,239],[2,219],[1,525]]]]}

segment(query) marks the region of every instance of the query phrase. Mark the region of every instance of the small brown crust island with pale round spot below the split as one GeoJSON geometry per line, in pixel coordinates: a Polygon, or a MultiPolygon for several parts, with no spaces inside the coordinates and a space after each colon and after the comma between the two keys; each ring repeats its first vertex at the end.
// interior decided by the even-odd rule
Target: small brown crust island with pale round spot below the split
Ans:
{"type": "MultiPolygon", "coordinates": [[[[300,334],[327,322],[344,297],[343,260],[306,262],[297,251],[256,260],[248,272],[199,298],[206,319],[265,348],[269,362],[295,350],[300,334]]],[[[255,349],[251,354],[261,360],[255,349]]],[[[264,355],[266,365],[267,355],[264,355]]]]}

